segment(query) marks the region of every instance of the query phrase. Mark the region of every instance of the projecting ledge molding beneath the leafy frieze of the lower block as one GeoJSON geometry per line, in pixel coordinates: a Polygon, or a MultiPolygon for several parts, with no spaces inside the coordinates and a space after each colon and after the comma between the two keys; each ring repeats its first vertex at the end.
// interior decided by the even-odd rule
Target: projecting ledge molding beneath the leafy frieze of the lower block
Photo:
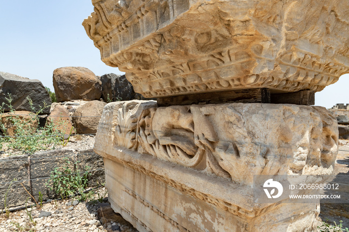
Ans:
{"type": "MultiPolygon", "coordinates": [[[[228,183],[226,181],[222,181],[219,180],[218,183],[220,183],[221,185],[224,186],[229,186],[231,187],[229,191],[227,191],[225,194],[223,194],[224,196],[214,196],[211,193],[205,193],[205,191],[201,188],[198,188],[198,185],[196,185],[195,188],[190,187],[190,182],[185,182],[183,181],[184,178],[188,177],[193,177],[193,173],[192,172],[186,172],[186,169],[180,169],[180,170],[174,170],[172,172],[172,177],[174,177],[175,172],[182,172],[183,173],[183,177],[179,177],[179,178],[171,178],[168,175],[164,175],[163,170],[161,172],[157,172],[157,166],[165,166],[165,169],[169,169],[171,168],[172,165],[169,166],[168,162],[161,161],[159,160],[158,162],[154,162],[154,160],[152,160],[152,162],[149,162],[149,160],[144,159],[145,156],[141,155],[142,158],[139,159],[140,162],[137,162],[134,155],[132,154],[132,151],[123,151],[124,154],[122,154],[123,157],[119,157],[119,155],[121,155],[121,150],[120,149],[116,149],[119,150],[119,152],[114,152],[114,154],[116,155],[109,155],[108,153],[105,153],[104,151],[99,150],[98,148],[95,148],[95,151],[98,152],[100,155],[102,155],[103,157],[116,161],[118,163],[123,164],[124,166],[127,166],[133,170],[136,170],[137,172],[143,173],[147,176],[150,176],[152,178],[154,178],[155,180],[159,180],[171,187],[173,187],[176,190],[179,190],[180,192],[182,192],[183,194],[187,194],[193,198],[199,199],[199,200],[203,200],[209,204],[212,204],[220,209],[222,209],[223,211],[228,211],[233,215],[236,216],[243,216],[243,217],[247,217],[247,218],[253,218],[255,216],[258,216],[260,213],[267,211],[269,208],[272,209],[274,208],[275,204],[270,204],[269,206],[264,206],[264,208],[259,208],[258,206],[254,209],[253,208],[253,204],[251,204],[251,200],[252,200],[252,189],[250,189],[249,187],[241,187],[239,185],[236,184],[231,184],[228,183]],[[150,164],[152,163],[152,170],[148,170],[145,168],[145,166],[148,165],[141,165],[142,163],[147,163],[150,164]],[[232,191],[235,190],[235,191],[232,191]],[[238,190],[238,191],[237,191],[238,190]],[[234,197],[237,197],[238,194],[240,194],[240,196],[242,195],[242,193],[244,193],[244,195],[248,196],[248,199],[244,199],[242,200],[240,197],[234,199],[234,197]],[[228,195],[230,196],[234,196],[234,197],[228,197],[228,195]],[[234,200],[233,200],[234,199],[234,200]],[[247,202],[249,202],[247,204],[247,202]]],[[[114,151],[116,151],[114,149],[114,151]]],[[[140,158],[140,157],[138,157],[140,158]]],[[[163,169],[163,168],[161,168],[163,169]]],[[[193,179],[196,180],[200,180],[200,182],[206,181],[204,179],[204,177],[202,176],[202,173],[200,172],[196,172],[195,173],[195,177],[193,179]]],[[[212,181],[212,180],[211,180],[212,181]]],[[[217,182],[217,180],[215,180],[215,182],[217,182]]],[[[215,188],[218,188],[218,185],[215,185],[215,188]]],[[[212,188],[212,190],[214,190],[215,188],[212,188]]],[[[126,191],[126,190],[125,190],[126,191]]]]}

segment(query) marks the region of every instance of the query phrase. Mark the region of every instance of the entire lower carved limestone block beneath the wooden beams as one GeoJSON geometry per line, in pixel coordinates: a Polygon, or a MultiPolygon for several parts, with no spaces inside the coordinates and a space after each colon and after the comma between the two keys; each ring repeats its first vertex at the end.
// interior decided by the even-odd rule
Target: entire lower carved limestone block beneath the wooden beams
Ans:
{"type": "Polygon", "coordinates": [[[140,231],[312,231],[317,204],[255,204],[253,175],[331,174],[338,127],[322,107],[116,102],[94,150],[113,209],[140,231]]]}

